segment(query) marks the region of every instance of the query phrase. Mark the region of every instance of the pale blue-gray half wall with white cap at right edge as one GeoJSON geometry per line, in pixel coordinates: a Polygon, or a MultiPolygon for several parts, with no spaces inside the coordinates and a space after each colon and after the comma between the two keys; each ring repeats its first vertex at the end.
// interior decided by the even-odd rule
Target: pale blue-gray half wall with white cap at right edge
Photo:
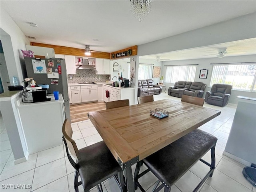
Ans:
{"type": "Polygon", "coordinates": [[[247,166],[256,164],[256,98],[238,96],[224,155],[247,166]]]}

